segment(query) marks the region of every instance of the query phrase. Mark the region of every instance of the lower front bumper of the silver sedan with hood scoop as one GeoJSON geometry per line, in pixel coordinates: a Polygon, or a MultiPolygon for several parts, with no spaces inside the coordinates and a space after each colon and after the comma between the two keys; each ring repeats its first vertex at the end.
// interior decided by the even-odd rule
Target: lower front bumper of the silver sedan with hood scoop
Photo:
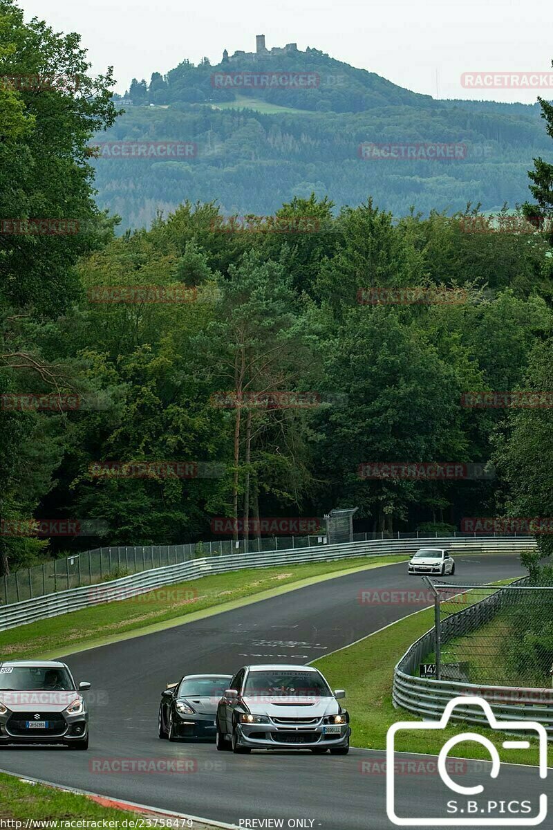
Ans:
{"type": "Polygon", "coordinates": [[[328,749],[349,745],[352,734],[348,724],[340,728],[340,734],[326,735],[325,727],[289,728],[273,724],[238,724],[235,727],[239,746],[250,749],[328,749]]]}

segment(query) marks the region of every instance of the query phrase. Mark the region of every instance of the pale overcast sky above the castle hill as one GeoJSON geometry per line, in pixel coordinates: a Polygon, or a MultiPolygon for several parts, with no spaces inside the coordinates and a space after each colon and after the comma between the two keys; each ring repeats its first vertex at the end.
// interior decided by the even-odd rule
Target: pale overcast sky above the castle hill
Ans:
{"type": "MultiPolygon", "coordinates": [[[[536,90],[463,88],[469,71],[548,72],[553,58],[551,0],[19,0],[26,17],[80,32],[95,72],[114,66],[123,93],[183,58],[221,60],[226,47],[315,46],[395,84],[440,98],[536,100],[536,90]]],[[[539,94],[553,99],[553,88],[539,94]]]]}

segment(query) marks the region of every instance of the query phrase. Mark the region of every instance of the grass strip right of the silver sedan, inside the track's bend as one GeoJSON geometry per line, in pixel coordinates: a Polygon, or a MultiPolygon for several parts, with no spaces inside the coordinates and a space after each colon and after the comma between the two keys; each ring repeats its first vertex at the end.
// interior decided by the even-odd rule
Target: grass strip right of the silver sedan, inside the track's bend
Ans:
{"type": "MultiPolygon", "coordinates": [[[[372,634],[339,652],[321,657],[313,663],[323,671],[333,689],[346,689],[347,710],[352,719],[352,745],[366,749],[386,749],[386,732],[398,720],[420,720],[403,709],[395,709],[391,699],[394,666],[410,645],[434,625],[434,609],[416,612],[398,623],[372,634]]],[[[471,724],[469,731],[487,735],[497,746],[502,761],[512,764],[537,764],[536,745],[531,749],[503,749],[501,736],[471,724]]],[[[445,740],[458,735],[459,727],[436,732],[397,733],[395,746],[399,752],[439,754],[445,740]]],[[[474,742],[459,744],[455,755],[462,758],[489,760],[483,746],[474,742]]],[[[549,749],[553,764],[553,747],[549,749]]]]}

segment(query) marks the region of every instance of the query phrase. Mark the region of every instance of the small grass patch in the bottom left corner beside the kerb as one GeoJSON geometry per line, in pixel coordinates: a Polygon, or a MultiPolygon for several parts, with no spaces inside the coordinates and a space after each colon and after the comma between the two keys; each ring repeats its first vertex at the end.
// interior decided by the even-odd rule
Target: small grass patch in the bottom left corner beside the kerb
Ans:
{"type": "Polygon", "coordinates": [[[121,821],[131,814],[99,804],[75,793],[63,793],[41,784],[31,784],[13,775],[0,774],[0,819],[25,821],[70,820],[85,818],[101,821],[121,821]]]}

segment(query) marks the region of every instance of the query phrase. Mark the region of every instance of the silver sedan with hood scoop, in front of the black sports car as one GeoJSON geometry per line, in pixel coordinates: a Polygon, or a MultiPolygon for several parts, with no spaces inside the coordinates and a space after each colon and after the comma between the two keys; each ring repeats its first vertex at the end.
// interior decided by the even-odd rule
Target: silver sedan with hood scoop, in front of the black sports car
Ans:
{"type": "Polygon", "coordinates": [[[217,749],[349,751],[349,715],[312,666],[244,666],[217,706],[217,749]]]}

